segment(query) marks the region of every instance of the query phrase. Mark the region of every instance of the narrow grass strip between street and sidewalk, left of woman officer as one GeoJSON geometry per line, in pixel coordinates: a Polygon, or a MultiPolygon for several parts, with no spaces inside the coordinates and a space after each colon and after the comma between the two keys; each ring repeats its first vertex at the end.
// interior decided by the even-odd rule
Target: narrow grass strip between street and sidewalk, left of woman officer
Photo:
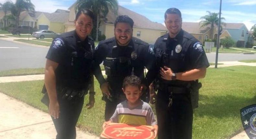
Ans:
{"type": "Polygon", "coordinates": [[[3,76],[18,76],[18,75],[32,75],[32,74],[44,74],[44,68],[37,69],[15,69],[15,70],[3,70],[0,71],[0,77],[3,76]]]}

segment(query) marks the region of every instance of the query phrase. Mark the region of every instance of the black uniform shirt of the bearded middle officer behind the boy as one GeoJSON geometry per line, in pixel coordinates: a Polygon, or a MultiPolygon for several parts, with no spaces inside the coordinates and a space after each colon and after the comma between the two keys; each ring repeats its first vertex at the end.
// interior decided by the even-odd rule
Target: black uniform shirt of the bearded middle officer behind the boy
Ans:
{"type": "MultiPolygon", "coordinates": [[[[108,82],[110,86],[112,86],[112,89],[116,88],[120,90],[122,88],[123,79],[131,75],[132,68],[134,68],[134,75],[143,80],[145,78],[144,67],[151,69],[155,62],[153,49],[148,43],[135,37],[132,37],[127,46],[118,46],[115,37],[112,37],[101,41],[95,48],[94,59],[96,65],[102,63],[102,61],[104,61],[103,64],[106,65],[106,58],[120,57],[130,59],[131,65],[127,66],[127,62],[124,62],[126,65],[122,65],[122,63],[118,62],[115,63],[115,70],[111,70],[114,71],[114,73],[112,72],[111,76],[108,76],[108,82]]],[[[102,83],[104,81],[101,80],[99,82],[102,83]]]]}

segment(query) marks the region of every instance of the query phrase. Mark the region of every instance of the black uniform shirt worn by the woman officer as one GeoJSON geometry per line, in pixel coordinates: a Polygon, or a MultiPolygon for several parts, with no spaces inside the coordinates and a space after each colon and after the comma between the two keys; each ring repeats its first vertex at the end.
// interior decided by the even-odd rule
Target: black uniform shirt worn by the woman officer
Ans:
{"type": "Polygon", "coordinates": [[[52,41],[46,55],[58,63],[55,70],[56,86],[84,89],[89,81],[94,41],[87,37],[81,41],[76,31],[63,33],[52,41]]]}

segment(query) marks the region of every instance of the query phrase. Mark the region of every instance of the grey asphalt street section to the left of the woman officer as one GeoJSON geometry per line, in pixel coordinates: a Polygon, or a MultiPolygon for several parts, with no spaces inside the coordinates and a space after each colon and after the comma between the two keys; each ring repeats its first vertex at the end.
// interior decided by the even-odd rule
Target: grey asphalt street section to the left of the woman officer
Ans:
{"type": "Polygon", "coordinates": [[[44,67],[48,49],[0,40],[0,71],[44,67]]]}

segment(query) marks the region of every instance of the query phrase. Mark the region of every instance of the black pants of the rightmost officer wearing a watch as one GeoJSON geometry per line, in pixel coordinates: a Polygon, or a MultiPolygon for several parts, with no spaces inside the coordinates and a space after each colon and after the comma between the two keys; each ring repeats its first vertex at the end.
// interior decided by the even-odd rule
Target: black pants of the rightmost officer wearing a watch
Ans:
{"type": "Polygon", "coordinates": [[[193,109],[190,94],[173,94],[169,107],[169,93],[157,93],[158,139],[192,139],[193,109]]]}

